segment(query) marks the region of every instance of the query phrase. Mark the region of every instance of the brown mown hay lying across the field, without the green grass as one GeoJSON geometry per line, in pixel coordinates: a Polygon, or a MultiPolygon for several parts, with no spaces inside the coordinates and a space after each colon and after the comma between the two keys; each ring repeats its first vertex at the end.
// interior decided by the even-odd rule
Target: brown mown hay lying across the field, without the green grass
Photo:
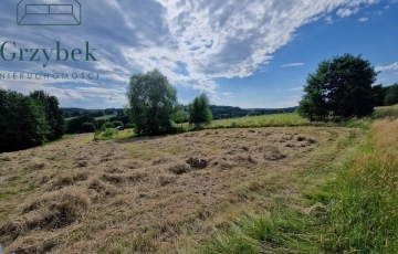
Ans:
{"type": "Polygon", "coordinates": [[[18,254],[176,252],[245,209],[263,211],[296,193],[297,172],[353,131],[219,129],[122,141],[77,135],[2,154],[0,243],[18,254]]]}

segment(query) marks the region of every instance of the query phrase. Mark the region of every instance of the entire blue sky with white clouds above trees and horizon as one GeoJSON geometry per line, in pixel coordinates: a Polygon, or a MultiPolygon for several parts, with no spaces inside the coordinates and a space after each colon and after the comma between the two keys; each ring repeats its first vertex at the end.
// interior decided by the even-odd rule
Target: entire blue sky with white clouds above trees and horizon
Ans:
{"type": "Polygon", "coordinates": [[[321,61],[344,53],[369,60],[380,71],[376,84],[398,82],[398,0],[78,2],[81,25],[18,25],[19,0],[0,2],[0,46],[9,42],[7,60],[17,53],[13,61],[0,55],[0,87],[24,94],[44,89],[63,107],[123,107],[129,77],[158,68],[182,104],[206,92],[217,105],[280,108],[298,104],[321,61]],[[43,67],[41,50],[38,61],[28,61],[28,53],[19,57],[19,49],[50,52],[56,42],[70,53],[80,49],[82,61],[56,61],[53,53],[43,67]],[[96,61],[84,61],[86,42],[96,61]],[[27,73],[50,78],[29,80],[27,73]],[[71,78],[81,73],[85,78],[71,78]]]}

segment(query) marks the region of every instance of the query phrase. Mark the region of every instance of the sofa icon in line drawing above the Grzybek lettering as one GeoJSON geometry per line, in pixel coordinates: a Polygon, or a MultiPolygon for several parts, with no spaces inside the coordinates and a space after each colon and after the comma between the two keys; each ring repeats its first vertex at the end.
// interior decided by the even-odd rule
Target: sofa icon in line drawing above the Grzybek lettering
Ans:
{"type": "Polygon", "coordinates": [[[17,6],[19,25],[80,25],[82,6],[77,0],[21,0],[17,6]]]}

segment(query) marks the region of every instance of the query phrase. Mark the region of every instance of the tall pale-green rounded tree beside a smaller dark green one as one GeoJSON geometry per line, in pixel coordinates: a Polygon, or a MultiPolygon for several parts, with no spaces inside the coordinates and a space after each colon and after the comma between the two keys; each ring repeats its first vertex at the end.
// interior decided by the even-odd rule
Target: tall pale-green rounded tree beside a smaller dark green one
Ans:
{"type": "Polygon", "coordinates": [[[130,77],[127,91],[129,113],[136,134],[159,134],[171,128],[177,105],[177,89],[167,77],[154,70],[130,77]]]}

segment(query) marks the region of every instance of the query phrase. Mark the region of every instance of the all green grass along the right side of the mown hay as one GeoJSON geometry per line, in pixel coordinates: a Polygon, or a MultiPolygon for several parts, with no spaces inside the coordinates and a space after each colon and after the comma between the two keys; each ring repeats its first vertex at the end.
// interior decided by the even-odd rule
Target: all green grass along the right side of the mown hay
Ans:
{"type": "MultiPolygon", "coordinates": [[[[304,200],[298,207],[281,202],[263,214],[243,214],[190,252],[397,253],[397,130],[398,120],[375,121],[347,162],[321,162],[302,176],[304,200]],[[300,212],[305,203],[311,204],[308,212],[300,212]]],[[[354,140],[338,149],[346,150],[354,140]]]]}

